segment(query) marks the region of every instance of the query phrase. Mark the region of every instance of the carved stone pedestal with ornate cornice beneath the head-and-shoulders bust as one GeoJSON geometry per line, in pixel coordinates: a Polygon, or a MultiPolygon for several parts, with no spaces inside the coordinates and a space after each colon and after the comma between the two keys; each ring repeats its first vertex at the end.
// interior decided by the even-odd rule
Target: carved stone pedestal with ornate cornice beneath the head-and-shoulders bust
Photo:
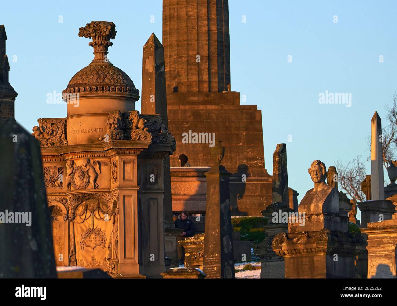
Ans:
{"type": "Polygon", "coordinates": [[[285,278],[355,278],[354,260],[365,248],[358,234],[322,229],[279,234],[273,250],[285,260],[285,278]]]}

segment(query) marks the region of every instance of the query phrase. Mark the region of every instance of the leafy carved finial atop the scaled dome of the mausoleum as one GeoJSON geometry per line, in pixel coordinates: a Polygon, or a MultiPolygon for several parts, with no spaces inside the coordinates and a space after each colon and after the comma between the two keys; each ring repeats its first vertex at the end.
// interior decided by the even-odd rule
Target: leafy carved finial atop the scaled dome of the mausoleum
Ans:
{"type": "Polygon", "coordinates": [[[91,21],[85,27],[79,28],[79,37],[92,38],[93,41],[89,43],[94,48],[93,63],[108,63],[106,58],[109,46],[113,43],[110,39],[116,38],[116,25],[109,21],[91,21]]]}

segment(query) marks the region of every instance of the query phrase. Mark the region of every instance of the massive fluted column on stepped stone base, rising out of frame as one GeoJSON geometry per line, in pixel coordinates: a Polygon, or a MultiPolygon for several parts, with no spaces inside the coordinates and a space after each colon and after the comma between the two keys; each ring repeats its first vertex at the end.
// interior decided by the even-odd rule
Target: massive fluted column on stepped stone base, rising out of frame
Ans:
{"type": "Polygon", "coordinates": [[[260,215],[272,203],[272,176],[265,169],[261,111],[240,105],[245,96],[230,88],[228,1],[163,0],[162,43],[168,123],[177,141],[171,166],[180,166],[180,154],[192,167],[211,164],[208,144],[223,139],[233,214],[260,215]],[[183,135],[195,137],[183,141],[183,135]]]}

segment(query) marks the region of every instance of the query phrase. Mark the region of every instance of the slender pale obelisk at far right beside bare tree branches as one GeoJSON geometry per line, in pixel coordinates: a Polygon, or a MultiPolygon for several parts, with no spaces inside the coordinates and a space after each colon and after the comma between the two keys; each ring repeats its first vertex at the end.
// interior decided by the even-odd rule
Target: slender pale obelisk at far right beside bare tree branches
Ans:
{"type": "Polygon", "coordinates": [[[384,200],[382,120],[375,112],[371,120],[371,199],[384,200]]]}

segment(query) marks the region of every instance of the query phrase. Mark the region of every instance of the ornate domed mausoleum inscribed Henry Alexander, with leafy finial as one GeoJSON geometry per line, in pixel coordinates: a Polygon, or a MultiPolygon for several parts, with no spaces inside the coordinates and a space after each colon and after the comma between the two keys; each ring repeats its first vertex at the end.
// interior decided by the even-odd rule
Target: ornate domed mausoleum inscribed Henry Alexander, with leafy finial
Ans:
{"type": "Polygon", "coordinates": [[[79,29],[94,59],[63,91],[66,118],[41,118],[40,141],[56,264],[112,277],[159,277],[164,263],[164,117],[139,114],[139,90],[107,59],[114,23],[79,29]]]}

